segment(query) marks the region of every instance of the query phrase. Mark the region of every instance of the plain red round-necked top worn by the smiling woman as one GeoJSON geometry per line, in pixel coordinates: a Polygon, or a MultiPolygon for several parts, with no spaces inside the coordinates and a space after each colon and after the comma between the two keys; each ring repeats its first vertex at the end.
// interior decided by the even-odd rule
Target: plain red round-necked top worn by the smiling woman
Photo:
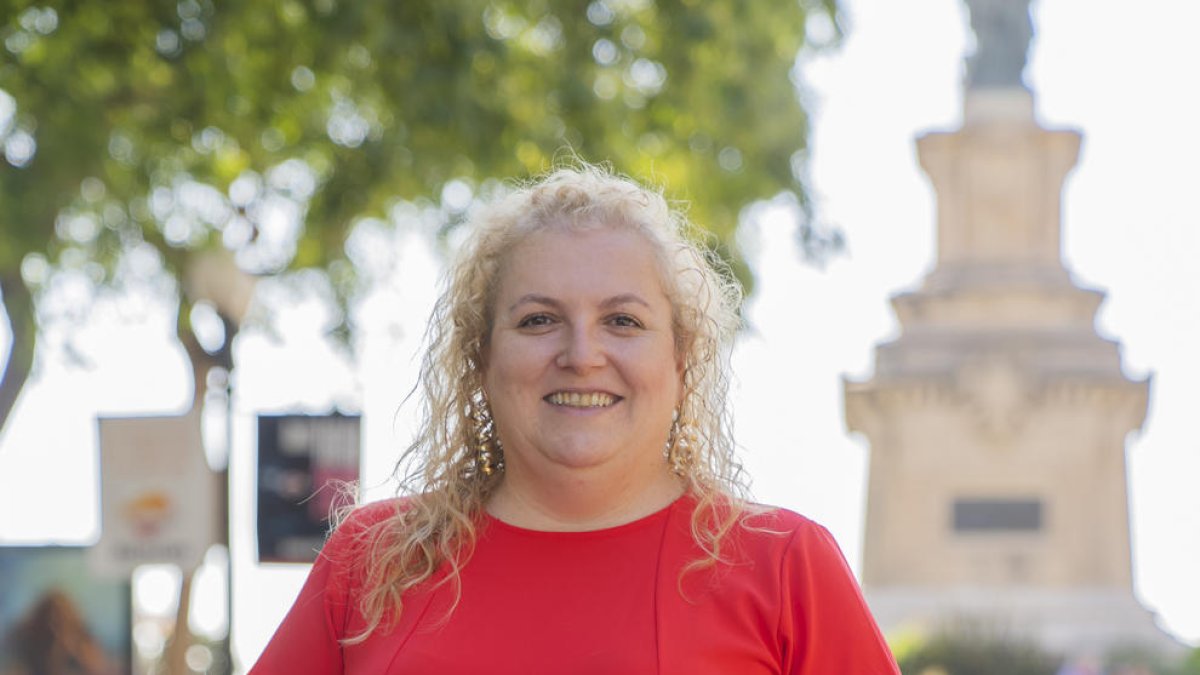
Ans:
{"type": "Polygon", "coordinates": [[[397,508],[371,504],[330,538],[251,675],[899,675],[828,531],[774,509],[725,539],[728,563],[680,577],[701,557],[692,507],[593,532],[486,516],[449,615],[454,585],[431,584],[394,628],[342,646],[362,626],[348,532],[397,508]]]}

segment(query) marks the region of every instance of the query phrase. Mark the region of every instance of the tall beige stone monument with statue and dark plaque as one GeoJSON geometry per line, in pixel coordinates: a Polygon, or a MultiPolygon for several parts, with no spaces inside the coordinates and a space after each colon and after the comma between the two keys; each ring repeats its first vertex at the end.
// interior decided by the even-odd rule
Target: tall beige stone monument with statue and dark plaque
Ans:
{"type": "Polygon", "coordinates": [[[1126,437],[1146,414],[1103,299],[1062,262],[1080,133],[1043,129],[1021,80],[1027,0],[967,0],[962,127],[917,139],[937,259],[893,298],[901,335],[845,382],[871,446],[863,585],[883,629],[972,619],[1068,655],[1176,649],[1133,595],[1126,437]]]}

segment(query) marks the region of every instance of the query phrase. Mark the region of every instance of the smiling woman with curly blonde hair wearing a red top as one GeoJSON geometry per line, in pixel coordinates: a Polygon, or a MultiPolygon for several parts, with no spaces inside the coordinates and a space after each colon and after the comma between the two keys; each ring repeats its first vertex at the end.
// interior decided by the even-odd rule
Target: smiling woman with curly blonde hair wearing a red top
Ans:
{"type": "Polygon", "coordinates": [[[582,167],[473,225],[412,496],[334,532],[253,673],[899,673],[828,532],[744,498],[739,294],[686,221],[582,167]]]}

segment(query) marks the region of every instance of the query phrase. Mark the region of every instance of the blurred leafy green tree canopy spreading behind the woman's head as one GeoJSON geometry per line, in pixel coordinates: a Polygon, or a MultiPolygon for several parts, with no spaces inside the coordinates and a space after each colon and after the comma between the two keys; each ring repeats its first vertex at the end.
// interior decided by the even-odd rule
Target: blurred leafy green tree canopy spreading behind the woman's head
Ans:
{"type": "Polygon", "coordinates": [[[199,405],[236,330],[222,307],[221,347],[191,329],[199,256],[322,269],[344,303],[361,219],[419,201],[452,226],[564,148],[668,185],[749,281],[739,210],[782,192],[806,213],[791,77],[815,19],[836,40],[835,0],[0,2],[0,429],[48,269],[112,286],[156,261],[199,405]]]}

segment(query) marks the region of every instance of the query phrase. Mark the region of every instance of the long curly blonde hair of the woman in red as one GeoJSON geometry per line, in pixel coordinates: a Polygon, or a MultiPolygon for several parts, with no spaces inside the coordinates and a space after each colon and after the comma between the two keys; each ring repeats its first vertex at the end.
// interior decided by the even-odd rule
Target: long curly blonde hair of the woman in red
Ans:
{"type": "MultiPolygon", "coordinates": [[[[401,491],[392,516],[358,534],[365,589],[359,609],[365,640],[398,616],[404,593],[438,569],[452,583],[475,544],[488,496],[504,479],[486,471],[479,450],[484,354],[492,333],[496,289],[510,251],[550,229],[628,228],[654,249],[671,301],[676,350],[683,357],[683,399],[677,413],[685,431],[672,434],[667,454],[696,501],[691,532],[703,556],[688,569],[722,560],[724,537],[754,509],[734,456],[726,408],[728,363],[742,291],[688,219],[661,191],[577,162],[518,186],[481,207],[449,270],[446,288],[430,318],[419,388],[422,424],[397,464],[401,491]]],[[[491,467],[487,467],[491,468],[491,467]]]]}

